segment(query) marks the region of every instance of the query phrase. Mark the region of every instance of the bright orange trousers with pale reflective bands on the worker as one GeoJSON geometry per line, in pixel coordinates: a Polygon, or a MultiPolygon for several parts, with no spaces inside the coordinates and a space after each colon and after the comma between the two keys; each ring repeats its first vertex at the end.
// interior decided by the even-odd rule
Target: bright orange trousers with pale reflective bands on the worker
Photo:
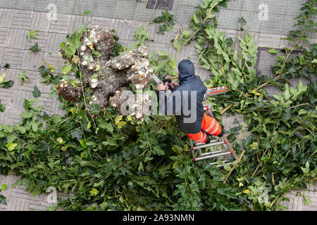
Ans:
{"type": "Polygon", "coordinates": [[[204,118],[201,123],[201,131],[197,134],[187,134],[189,139],[197,143],[205,143],[207,141],[207,134],[218,136],[221,133],[221,127],[215,118],[210,117],[204,113],[204,118]]]}

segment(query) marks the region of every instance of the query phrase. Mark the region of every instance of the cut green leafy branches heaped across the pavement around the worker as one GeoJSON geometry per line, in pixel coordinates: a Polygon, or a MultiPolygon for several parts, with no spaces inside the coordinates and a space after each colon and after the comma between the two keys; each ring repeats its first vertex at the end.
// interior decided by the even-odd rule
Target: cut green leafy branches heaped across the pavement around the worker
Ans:
{"type": "MultiPolygon", "coordinates": [[[[66,115],[49,116],[32,98],[25,100],[22,122],[0,125],[0,174],[21,175],[15,185],[24,182],[32,195],[49,186],[72,191],[58,203],[64,210],[275,210],[291,188],[316,180],[312,111],[317,84],[288,84],[293,77],[316,74],[317,45],[311,44],[311,51],[299,46],[313,30],[315,1],[304,4],[297,18],[301,29],[287,37],[292,48],[277,57],[272,77],[256,75],[257,46],[249,34],[239,38],[240,50],[231,53],[232,39],[216,30],[214,13],[226,2],[204,0],[191,18],[194,32],[183,31],[173,45],[180,51],[194,40],[201,65],[214,75],[211,85],[229,87],[228,94],[209,99],[216,117],[244,115],[248,132],[242,136],[249,136],[242,140],[244,157],[233,171],[193,164],[187,136],[178,131],[174,117],[149,116],[140,122],[107,108],[92,119],[85,101],[63,99],[66,115]],[[299,55],[291,58],[295,49],[299,55]],[[263,89],[267,85],[282,94],[270,100],[263,89]]],[[[134,46],[142,45],[149,33],[139,26],[135,37],[134,46]]],[[[166,51],[152,53],[150,60],[159,74],[176,66],[166,51]]],[[[42,68],[41,74],[54,81],[49,69],[42,68]]],[[[236,136],[242,129],[232,128],[228,135],[238,155],[242,136],[236,136]]]]}

